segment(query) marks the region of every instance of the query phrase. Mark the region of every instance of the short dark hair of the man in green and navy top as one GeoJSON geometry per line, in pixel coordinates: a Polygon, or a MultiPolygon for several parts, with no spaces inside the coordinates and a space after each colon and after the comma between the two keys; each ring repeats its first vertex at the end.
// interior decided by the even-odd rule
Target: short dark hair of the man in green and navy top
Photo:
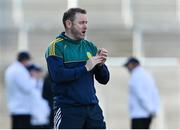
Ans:
{"type": "Polygon", "coordinates": [[[81,9],[81,8],[68,9],[66,12],[64,12],[63,19],[62,19],[65,28],[66,28],[66,24],[65,24],[66,20],[70,20],[73,22],[75,19],[76,13],[87,14],[85,9],[81,9]]]}

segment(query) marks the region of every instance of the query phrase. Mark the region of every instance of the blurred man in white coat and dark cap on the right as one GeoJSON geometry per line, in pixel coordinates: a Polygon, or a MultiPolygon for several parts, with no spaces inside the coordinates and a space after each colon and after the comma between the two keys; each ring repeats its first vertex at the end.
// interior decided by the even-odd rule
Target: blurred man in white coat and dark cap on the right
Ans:
{"type": "Polygon", "coordinates": [[[152,76],[140,62],[130,57],[124,65],[131,73],[129,81],[129,113],[132,129],[149,129],[159,110],[159,95],[152,76]]]}

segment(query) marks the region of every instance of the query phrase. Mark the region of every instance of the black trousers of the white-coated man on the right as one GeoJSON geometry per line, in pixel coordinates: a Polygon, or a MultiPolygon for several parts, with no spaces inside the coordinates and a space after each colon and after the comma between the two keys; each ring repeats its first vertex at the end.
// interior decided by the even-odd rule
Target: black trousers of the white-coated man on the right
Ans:
{"type": "Polygon", "coordinates": [[[152,117],[134,118],[131,120],[131,129],[149,129],[152,117]]]}

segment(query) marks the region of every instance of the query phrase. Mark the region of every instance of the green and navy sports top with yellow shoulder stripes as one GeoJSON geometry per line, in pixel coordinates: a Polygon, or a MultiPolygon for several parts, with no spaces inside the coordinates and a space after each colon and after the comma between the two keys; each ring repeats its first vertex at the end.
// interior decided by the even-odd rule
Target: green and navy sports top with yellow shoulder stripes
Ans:
{"type": "MultiPolygon", "coordinates": [[[[98,105],[94,77],[101,84],[109,81],[106,65],[85,68],[89,56],[95,56],[97,47],[87,40],[72,40],[60,34],[46,51],[46,61],[53,81],[54,110],[70,106],[98,105]]],[[[57,122],[56,122],[57,123],[57,122]]]]}

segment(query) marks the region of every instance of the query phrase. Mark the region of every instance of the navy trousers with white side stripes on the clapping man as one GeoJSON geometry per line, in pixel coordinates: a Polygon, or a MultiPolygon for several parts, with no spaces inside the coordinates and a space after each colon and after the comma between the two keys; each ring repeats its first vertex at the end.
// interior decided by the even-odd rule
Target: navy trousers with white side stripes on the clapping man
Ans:
{"type": "Polygon", "coordinates": [[[54,113],[55,129],[106,129],[98,104],[59,108],[54,113]]]}

